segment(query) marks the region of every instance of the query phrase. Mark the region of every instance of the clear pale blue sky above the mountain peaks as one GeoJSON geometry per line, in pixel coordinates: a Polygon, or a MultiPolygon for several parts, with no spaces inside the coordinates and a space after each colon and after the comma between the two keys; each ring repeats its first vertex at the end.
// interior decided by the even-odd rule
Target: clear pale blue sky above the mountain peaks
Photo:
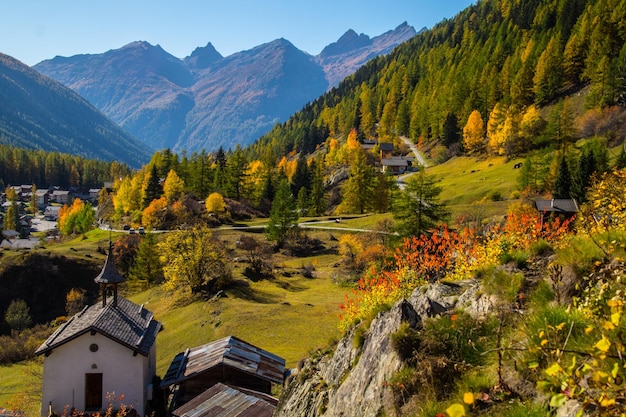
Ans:
{"type": "Polygon", "coordinates": [[[348,29],[374,37],[403,22],[431,28],[471,0],[0,0],[0,52],[27,65],[147,41],[178,58],[285,38],[311,55],[348,29]]]}

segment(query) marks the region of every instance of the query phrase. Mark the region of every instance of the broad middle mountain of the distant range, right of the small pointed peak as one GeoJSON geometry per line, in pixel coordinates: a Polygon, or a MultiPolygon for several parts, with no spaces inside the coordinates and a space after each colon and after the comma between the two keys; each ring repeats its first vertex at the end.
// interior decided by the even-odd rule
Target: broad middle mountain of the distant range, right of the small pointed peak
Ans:
{"type": "Polygon", "coordinates": [[[325,91],[313,57],[284,39],[233,54],[198,74],[195,106],[174,149],[247,144],[325,91]]]}

